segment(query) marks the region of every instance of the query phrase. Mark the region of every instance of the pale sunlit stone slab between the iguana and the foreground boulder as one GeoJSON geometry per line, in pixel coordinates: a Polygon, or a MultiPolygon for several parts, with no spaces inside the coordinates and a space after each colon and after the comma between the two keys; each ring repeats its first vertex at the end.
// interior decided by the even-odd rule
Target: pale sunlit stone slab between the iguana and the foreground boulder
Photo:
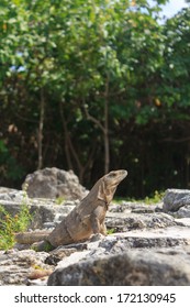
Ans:
{"type": "MultiPolygon", "coordinates": [[[[157,249],[157,248],[177,248],[177,246],[189,246],[190,245],[190,228],[186,229],[183,227],[168,228],[163,232],[158,230],[143,230],[143,231],[128,231],[123,233],[114,233],[108,235],[104,239],[99,239],[97,237],[90,239],[90,241],[83,243],[83,249],[80,251],[78,245],[72,244],[57,248],[55,251],[51,252],[52,256],[59,256],[59,263],[57,267],[67,267],[71,264],[78,264],[82,260],[92,260],[98,257],[104,257],[111,254],[119,254],[123,252],[128,252],[136,249],[157,249]],[[66,250],[77,249],[77,253],[67,255],[67,258],[62,261],[60,255],[66,252],[66,250]],[[60,254],[59,254],[60,253],[60,254]]],[[[69,252],[68,251],[68,252],[69,252]]],[[[76,252],[76,251],[75,251],[76,252]]]]}

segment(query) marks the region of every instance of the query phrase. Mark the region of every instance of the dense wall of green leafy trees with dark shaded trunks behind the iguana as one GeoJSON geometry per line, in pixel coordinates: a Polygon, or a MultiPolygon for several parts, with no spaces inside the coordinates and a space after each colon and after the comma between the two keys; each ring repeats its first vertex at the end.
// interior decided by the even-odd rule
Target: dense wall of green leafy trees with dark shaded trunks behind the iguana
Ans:
{"type": "Polygon", "coordinates": [[[126,168],[131,197],[188,188],[190,9],[160,23],[166,2],[1,0],[1,186],[56,166],[88,188],[126,168]]]}

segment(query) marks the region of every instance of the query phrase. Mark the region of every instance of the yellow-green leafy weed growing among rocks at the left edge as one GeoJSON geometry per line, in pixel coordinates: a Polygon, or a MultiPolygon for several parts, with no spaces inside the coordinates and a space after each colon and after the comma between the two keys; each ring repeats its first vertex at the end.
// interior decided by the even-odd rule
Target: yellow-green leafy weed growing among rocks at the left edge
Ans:
{"type": "Polygon", "coordinates": [[[0,250],[8,250],[15,243],[14,234],[25,231],[32,220],[25,193],[19,213],[11,216],[0,206],[0,216],[2,217],[0,219],[0,250]]]}

